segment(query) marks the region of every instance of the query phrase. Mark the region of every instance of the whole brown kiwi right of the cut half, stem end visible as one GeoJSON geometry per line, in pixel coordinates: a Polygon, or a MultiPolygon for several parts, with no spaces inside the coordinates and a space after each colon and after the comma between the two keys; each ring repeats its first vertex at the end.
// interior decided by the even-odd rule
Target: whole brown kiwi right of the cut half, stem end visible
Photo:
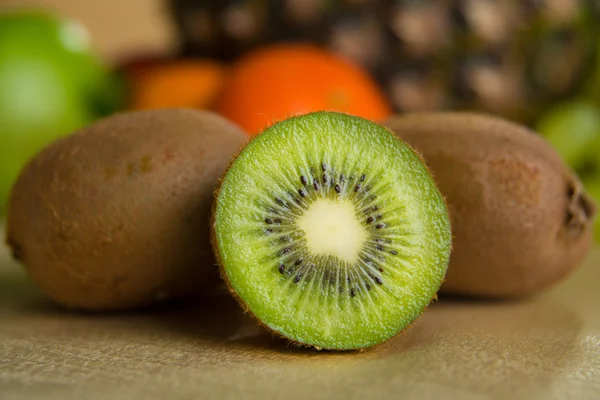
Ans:
{"type": "Polygon", "coordinates": [[[526,296],[588,253],[596,207],[535,132],[451,112],[401,115],[385,125],[422,153],[448,202],[454,249],[442,292],[526,296]]]}

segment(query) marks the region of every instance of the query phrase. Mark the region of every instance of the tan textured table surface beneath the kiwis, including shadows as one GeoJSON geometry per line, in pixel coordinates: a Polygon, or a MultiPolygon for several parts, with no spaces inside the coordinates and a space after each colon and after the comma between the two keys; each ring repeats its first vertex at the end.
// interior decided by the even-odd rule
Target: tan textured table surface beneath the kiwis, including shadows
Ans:
{"type": "Polygon", "coordinates": [[[520,302],[442,298],[361,352],[297,349],[227,295],[89,315],[46,301],[0,250],[0,399],[600,399],[600,250],[520,302]]]}

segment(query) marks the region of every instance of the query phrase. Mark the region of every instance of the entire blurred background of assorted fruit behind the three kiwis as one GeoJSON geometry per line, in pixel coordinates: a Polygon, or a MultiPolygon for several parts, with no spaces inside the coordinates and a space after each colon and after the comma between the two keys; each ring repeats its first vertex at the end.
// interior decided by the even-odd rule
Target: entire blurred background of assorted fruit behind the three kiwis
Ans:
{"type": "Polygon", "coordinates": [[[47,143],[177,106],[249,135],[319,109],[492,113],[545,136],[600,201],[599,29],[597,0],[2,0],[0,220],[47,143]]]}

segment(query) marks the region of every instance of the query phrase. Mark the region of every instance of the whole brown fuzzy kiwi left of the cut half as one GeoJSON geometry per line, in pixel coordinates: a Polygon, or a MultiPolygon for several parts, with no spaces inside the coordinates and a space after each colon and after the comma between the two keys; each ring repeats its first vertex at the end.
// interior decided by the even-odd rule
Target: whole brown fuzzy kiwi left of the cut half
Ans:
{"type": "Polygon", "coordinates": [[[35,156],[12,188],[7,243],[70,308],[121,310],[202,288],[213,192],[246,134],[216,114],[115,115],[35,156]]]}

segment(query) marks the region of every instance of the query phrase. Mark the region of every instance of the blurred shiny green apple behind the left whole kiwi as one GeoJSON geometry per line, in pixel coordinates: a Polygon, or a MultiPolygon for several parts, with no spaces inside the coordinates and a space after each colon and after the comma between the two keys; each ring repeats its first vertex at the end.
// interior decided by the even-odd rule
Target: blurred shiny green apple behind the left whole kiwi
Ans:
{"type": "Polygon", "coordinates": [[[31,156],[114,111],[120,97],[82,25],[41,12],[0,14],[0,216],[31,156]]]}

